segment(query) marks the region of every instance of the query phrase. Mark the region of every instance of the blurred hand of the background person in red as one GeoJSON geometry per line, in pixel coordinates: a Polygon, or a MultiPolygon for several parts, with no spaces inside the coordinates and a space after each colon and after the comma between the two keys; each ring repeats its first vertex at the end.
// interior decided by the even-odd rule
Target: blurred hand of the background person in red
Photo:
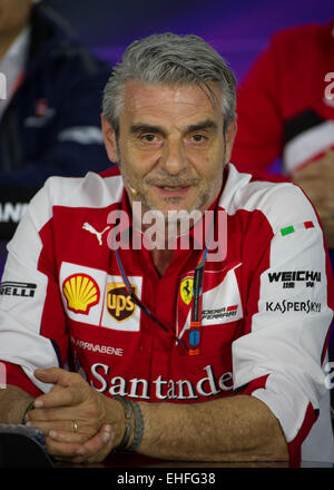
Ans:
{"type": "Polygon", "coordinates": [[[328,248],[334,248],[334,151],[312,161],[293,174],[293,182],[305,190],[314,204],[328,248]]]}

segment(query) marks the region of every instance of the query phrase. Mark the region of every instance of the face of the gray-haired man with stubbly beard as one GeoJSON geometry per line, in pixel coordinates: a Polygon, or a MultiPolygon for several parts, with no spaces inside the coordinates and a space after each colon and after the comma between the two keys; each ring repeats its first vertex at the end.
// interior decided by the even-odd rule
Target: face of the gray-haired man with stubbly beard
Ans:
{"type": "MultiPolygon", "coordinates": [[[[165,216],[168,210],[204,212],[217,197],[235,125],[225,143],[220,95],[212,88],[215,106],[196,85],[126,85],[118,159],[130,200],[140,200],[144,210],[158,209],[165,216]]],[[[116,158],[111,155],[112,161],[116,158]]]]}

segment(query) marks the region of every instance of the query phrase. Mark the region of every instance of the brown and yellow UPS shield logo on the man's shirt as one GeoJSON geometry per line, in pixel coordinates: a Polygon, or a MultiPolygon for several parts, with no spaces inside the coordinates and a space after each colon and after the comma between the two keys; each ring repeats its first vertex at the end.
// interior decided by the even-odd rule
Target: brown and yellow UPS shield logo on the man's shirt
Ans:
{"type": "MultiPolygon", "coordinates": [[[[137,294],[137,286],[131,284],[131,287],[137,294]]],[[[109,283],[107,285],[107,308],[117,322],[124,322],[134,315],[136,305],[124,283],[109,283]]]]}

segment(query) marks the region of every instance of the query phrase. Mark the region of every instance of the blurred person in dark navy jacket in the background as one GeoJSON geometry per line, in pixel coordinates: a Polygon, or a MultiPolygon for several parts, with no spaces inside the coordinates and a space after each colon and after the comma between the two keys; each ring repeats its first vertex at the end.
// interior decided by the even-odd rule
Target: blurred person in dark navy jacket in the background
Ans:
{"type": "Polygon", "coordinates": [[[110,165],[99,120],[109,71],[48,6],[0,0],[0,238],[47,177],[110,165]]]}

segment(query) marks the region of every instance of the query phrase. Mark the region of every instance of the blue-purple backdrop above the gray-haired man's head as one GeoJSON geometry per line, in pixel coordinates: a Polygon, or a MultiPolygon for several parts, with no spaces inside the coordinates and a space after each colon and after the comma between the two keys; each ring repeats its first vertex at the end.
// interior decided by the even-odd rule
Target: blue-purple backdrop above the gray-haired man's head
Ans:
{"type": "Polygon", "coordinates": [[[43,1],[111,63],[135,39],[165,31],[194,33],[226,58],[238,80],[276,30],[334,18],[333,0],[43,1]]]}

